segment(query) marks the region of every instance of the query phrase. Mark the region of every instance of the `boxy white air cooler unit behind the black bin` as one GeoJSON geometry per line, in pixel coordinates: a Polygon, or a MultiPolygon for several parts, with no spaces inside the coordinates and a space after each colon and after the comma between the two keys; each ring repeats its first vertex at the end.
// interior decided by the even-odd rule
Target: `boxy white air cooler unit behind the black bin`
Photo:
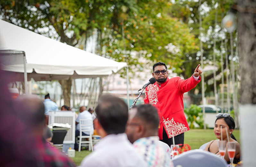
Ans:
{"type": "Polygon", "coordinates": [[[75,111],[50,111],[49,112],[49,125],[53,123],[71,125],[68,130],[63,144],[74,144],[75,143],[75,111]]]}

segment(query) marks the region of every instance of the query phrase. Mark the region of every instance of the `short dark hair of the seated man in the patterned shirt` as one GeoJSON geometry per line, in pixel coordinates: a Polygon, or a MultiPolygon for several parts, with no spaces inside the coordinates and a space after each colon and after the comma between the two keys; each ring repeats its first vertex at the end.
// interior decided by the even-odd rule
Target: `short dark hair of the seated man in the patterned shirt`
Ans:
{"type": "Polygon", "coordinates": [[[137,109],[137,113],[134,117],[140,118],[149,128],[158,129],[159,116],[157,109],[151,104],[141,104],[134,106],[133,109],[137,109]]]}

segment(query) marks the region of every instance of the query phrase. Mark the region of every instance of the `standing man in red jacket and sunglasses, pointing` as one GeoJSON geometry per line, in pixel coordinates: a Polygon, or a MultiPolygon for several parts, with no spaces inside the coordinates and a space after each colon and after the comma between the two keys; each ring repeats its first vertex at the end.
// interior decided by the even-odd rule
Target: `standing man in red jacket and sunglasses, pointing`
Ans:
{"type": "Polygon", "coordinates": [[[182,80],[180,77],[169,79],[164,63],[158,62],[153,65],[152,76],[157,82],[146,88],[144,102],[158,109],[159,139],[169,146],[173,144],[173,136],[175,144],[184,144],[184,132],[189,130],[189,126],[184,114],[183,94],[201,81],[199,75],[202,70],[199,66],[200,64],[190,78],[182,80]]]}

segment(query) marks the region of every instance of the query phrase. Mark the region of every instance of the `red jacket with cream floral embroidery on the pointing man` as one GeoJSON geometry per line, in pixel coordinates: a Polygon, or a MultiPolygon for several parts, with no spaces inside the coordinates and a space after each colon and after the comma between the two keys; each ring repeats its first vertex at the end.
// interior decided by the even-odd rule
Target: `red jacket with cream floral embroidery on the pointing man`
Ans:
{"type": "Polygon", "coordinates": [[[168,79],[160,87],[157,83],[146,87],[145,103],[150,103],[158,109],[159,139],[163,139],[163,128],[169,138],[177,136],[189,130],[189,126],[184,114],[183,94],[190,91],[201,81],[194,80],[193,76],[186,80],[180,77],[168,79]],[[174,134],[172,133],[174,132],[174,134]]]}

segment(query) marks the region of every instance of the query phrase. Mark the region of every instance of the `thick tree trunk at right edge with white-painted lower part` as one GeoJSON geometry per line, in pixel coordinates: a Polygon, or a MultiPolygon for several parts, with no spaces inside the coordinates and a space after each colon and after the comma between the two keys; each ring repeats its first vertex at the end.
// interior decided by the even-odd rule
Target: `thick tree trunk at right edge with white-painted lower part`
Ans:
{"type": "Polygon", "coordinates": [[[255,166],[256,146],[256,2],[238,0],[238,54],[241,74],[241,141],[243,166],[255,166]]]}

